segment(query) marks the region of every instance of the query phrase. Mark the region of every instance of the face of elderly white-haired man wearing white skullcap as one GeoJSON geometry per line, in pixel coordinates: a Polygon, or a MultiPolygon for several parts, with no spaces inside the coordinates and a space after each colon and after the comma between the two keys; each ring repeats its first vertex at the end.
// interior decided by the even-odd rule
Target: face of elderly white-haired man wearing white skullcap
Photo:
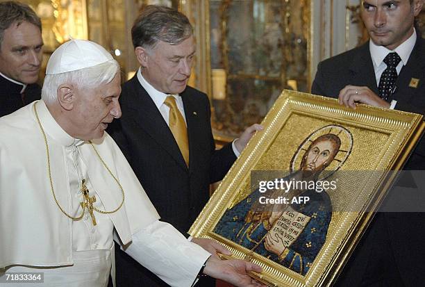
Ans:
{"type": "Polygon", "coordinates": [[[118,98],[121,94],[119,73],[113,81],[99,88],[78,91],[74,114],[69,119],[72,136],[81,140],[101,138],[108,124],[121,117],[118,98]]]}

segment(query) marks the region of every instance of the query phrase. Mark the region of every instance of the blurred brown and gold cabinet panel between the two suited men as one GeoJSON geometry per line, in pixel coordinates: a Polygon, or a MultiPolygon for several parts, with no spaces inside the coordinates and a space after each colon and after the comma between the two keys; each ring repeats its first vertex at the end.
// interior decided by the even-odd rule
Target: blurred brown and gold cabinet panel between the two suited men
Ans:
{"type": "Polygon", "coordinates": [[[208,8],[213,129],[232,138],[260,122],[281,89],[310,88],[310,1],[216,0],[208,8]]]}

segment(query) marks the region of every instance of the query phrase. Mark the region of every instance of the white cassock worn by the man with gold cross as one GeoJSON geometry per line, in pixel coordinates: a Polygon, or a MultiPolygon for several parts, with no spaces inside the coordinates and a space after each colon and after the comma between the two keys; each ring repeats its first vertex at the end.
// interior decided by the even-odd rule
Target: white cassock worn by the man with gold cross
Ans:
{"type": "Polygon", "coordinates": [[[156,209],[107,133],[93,145],[121,183],[124,205],[112,214],[94,211],[97,225],[87,210],[78,221],[60,211],[51,192],[47,151],[34,104],[47,136],[51,179],[63,210],[74,217],[81,214],[83,179],[101,211],[113,211],[122,202],[121,189],[92,145],[63,131],[44,101],[1,117],[0,268],[8,267],[7,273],[44,272],[40,286],[106,286],[113,266],[114,233],[118,242],[128,246],[128,254],[167,284],[191,286],[210,254],[158,220],[156,209]]]}

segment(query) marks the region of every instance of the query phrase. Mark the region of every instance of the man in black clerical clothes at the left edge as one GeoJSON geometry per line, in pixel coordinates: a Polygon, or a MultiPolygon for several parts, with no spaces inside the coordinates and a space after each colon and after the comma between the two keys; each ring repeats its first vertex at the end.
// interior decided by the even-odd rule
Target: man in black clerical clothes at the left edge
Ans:
{"type": "Polygon", "coordinates": [[[40,18],[27,5],[0,3],[0,117],[40,99],[40,18]]]}

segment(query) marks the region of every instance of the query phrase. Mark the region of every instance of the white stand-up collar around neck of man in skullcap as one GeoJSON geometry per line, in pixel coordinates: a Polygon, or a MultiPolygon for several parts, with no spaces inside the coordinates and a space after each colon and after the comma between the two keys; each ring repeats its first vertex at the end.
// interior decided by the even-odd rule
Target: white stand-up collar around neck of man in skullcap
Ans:
{"type": "Polygon", "coordinates": [[[69,136],[69,134],[62,129],[62,127],[58,124],[58,122],[56,122],[54,117],[51,115],[49,109],[47,108],[46,104],[42,99],[40,101],[35,101],[34,104],[36,105],[35,108],[37,108],[38,117],[44,129],[44,132],[48,133],[49,136],[53,138],[53,140],[56,140],[65,147],[83,144],[83,140],[79,140],[78,138],[72,138],[72,136],[69,136]]]}

